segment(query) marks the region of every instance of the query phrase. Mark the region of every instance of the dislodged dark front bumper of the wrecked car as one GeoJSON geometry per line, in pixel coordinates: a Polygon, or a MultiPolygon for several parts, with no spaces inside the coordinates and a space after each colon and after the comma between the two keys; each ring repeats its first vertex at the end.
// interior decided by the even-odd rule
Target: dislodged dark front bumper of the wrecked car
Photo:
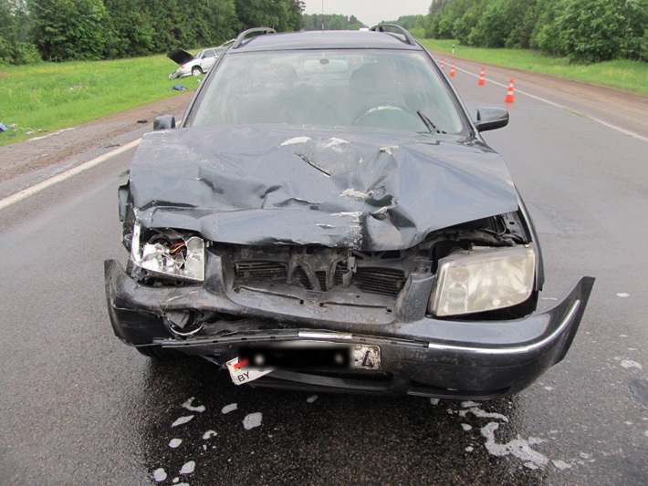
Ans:
{"type": "Polygon", "coordinates": [[[204,285],[149,287],[120,264],[105,264],[106,293],[115,334],[132,346],[162,346],[208,357],[223,366],[242,345],[286,341],[380,346],[381,371],[344,374],[274,371],[254,381],[276,388],[406,393],[486,399],[528,387],[567,353],[594,279],[582,277],[554,307],[507,321],[451,321],[425,315],[434,276],[412,274],[396,305],[340,305],[228,288],[212,258],[204,285]],[[172,336],[172,311],[228,316],[186,338],[172,336]],[[231,316],[240,320],[232,321],[231,316]]]}

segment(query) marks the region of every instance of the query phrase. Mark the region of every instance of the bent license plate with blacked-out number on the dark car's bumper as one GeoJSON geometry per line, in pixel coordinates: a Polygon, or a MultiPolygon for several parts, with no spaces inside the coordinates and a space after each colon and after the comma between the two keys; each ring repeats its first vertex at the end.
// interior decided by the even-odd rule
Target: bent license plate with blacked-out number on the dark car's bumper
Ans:
{"type": "Polygon", "coordinates": [[[235,385],[254,381],[275,369],[291,371],[335,371],[381,369],[379,346],[336,345],[313,346],[289,343],[278,346],[244,346],[239,356],[227,362],[235,385]]]}

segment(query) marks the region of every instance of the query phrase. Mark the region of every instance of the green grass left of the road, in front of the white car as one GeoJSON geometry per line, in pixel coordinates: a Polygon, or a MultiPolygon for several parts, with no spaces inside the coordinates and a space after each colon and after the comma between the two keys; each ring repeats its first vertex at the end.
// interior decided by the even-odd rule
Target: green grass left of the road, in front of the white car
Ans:
{"type": "Polygon", "coordinates": [[[0,147],[172,97],[181,93],[169,90],[175,83],[198,86],[193,77],[169,81],[175,68],[163,55],[0,66],[0,122],[17,126],[0,132],[0,147]]]}

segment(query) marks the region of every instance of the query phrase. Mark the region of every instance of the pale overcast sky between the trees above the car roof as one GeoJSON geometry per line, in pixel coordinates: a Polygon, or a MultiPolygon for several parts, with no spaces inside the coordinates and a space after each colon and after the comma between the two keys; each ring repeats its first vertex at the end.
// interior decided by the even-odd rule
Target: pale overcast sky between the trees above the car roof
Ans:
{"type": "MultiPolygon", "coordinates": [[[[432,0],[324,0],[325,14],[357,16],[367,26],[400,16],[427,14],[432,0]]],[[[322,0],[306,0],[306,14],[321,14],[322,0]]]]}

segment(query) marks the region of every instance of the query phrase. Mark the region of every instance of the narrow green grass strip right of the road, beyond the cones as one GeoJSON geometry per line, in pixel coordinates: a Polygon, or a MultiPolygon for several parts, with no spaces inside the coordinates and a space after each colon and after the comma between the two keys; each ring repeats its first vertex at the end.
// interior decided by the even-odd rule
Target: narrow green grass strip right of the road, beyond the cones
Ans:
{"type": "Polygon", "coordinates": [[[460,46],[457,40],[418,39],[428,49],[497,66],[514,67],[559,78],[625,89],[648,95],[648,63],[619,59],[589,66],[570,64],[567,57],[548,57],[526,49],[486,49],[460,46]]]}

